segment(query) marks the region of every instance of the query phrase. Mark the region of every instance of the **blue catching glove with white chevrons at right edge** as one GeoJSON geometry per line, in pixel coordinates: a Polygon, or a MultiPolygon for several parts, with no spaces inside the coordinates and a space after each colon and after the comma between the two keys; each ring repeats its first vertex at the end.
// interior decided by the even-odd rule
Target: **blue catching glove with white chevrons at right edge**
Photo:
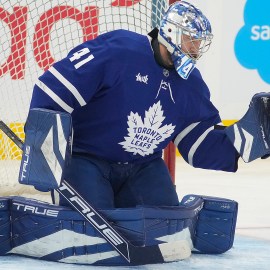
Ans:
{"type": "Polygon", "coordinates": [[[245,162],[270,154],[270,93],[253,96],[243,118],[225,132],[245,162]]]}

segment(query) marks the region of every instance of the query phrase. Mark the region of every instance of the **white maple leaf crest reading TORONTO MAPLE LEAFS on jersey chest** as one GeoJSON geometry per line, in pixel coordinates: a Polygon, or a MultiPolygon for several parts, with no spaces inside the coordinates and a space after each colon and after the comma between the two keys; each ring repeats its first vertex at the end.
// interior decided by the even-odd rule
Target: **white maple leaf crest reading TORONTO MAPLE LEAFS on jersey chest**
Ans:
{"type": "Polygon", "coordinates": [[[119,144],[123,146],[125,151],[134,155],[153,154],[158,144],[169,138],[174,132],[175,126],[172,124],[162,126],[164,119],[160,101],[145,112],[144,121],[137,112],[130,112],[127,122],[128,136],[125,137],[125,141],[119,144]]]}

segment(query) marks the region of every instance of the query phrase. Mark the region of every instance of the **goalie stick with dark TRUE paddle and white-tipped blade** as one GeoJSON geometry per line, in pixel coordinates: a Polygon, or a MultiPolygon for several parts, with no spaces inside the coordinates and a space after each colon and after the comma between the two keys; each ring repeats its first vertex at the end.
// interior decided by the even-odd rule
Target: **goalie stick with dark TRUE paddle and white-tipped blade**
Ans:
{"type": "MultiPolygon", "coordinates": [[[[23,141],[0,120],[0,129],[22,150],[23,141]]],[[[103,218],[88,202],[86,202],[65,180],[56,189],[69,204],[80,213],[131,265],[164,263],[182,260],[190,256],[187,241],[161,243],[153,246],[134,246],[121,236],[110,223],[103,218]]],[[[183,218],[193,218],[198,205],[184,212],[183,218]]]]}

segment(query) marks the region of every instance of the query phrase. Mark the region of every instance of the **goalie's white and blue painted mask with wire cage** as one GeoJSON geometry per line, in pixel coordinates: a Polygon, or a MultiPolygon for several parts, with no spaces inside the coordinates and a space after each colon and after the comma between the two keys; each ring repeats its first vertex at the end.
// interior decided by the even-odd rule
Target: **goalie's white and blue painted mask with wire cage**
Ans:
{"type": "Polygon", "coordinates": [[[187,79],[197,60],[211,44],[210,22],[193,5],[181,1],[172,4],[161,21],[158,41],[172,56],[177,73],[187,79]]]}

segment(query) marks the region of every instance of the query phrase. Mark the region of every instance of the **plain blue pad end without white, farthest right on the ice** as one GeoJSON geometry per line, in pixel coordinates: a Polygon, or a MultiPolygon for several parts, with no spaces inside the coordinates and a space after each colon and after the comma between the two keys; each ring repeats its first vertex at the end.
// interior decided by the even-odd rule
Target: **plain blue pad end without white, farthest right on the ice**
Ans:
{"type": "MultiPolygon", "coordinates": [[[[190,196],[190,195],[189,195],[190,196]]],[[[233,246],[238,203],[229,199],[205,197],[198,219],[194,220],[194,253],[221,254],[233,246]]],[[[187,200],[187,196],[183,201],[187,200]]]]}

